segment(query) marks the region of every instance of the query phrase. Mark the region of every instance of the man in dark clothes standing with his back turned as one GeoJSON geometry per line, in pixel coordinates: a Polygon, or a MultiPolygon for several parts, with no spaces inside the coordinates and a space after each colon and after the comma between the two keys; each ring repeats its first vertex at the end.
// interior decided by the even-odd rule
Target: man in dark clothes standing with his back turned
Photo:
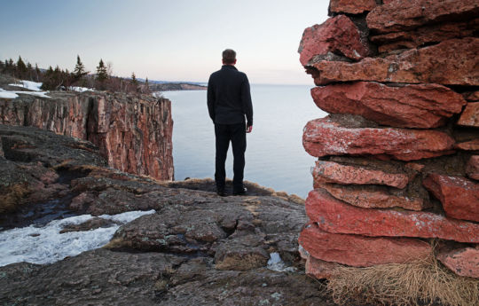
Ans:
{"type": "Polygon", "coordinates": [[[209,76],[208,81],[208,112],[215,123],[216,136],[216,192],[223,197],[226,196],[224,162],[230,141],[233,151],[233,195],[246,193],[243,186],[246,133],[253,129],[253,106],[247,75],[234,65],[236,52],[226,49],[223,51],[223,67],[209,76]]]}

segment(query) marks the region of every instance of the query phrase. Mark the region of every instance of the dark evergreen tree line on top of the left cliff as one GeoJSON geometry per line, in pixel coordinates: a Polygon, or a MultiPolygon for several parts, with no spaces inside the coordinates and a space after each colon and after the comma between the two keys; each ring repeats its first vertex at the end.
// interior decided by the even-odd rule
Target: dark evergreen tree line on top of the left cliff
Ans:
{"type": "Polygon", "coordinates": [[[109,90],[126,93],[151,93],[148,78],[145,82],[139,82],[135,73],[131,78],[122,78],[113,75],[111,64],[105,65],[100,59],[94,74],[90,74],[82,63],[80,56],[76,56],[75,69],[60,69],[59,66],[41,69],[35,64],[25,63],[21,56],[17,61],[13,59],[0,60],[0,72],[12,75],[20,80],[42,82],[42,90],[71,90],[72,87],[87,87],[95,90],[109,90]]]}

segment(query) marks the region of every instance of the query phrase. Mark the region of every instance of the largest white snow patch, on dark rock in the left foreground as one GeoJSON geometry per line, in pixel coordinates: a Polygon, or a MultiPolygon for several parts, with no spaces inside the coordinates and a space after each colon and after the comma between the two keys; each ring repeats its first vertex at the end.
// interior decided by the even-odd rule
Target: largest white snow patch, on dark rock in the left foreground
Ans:
{"type": "MultiPolygon", "coordinates": [[[[154,214],[149,211],[129,211],[119,215],[102,215],[103,219],[126,224],[137,217],[154,214]]],[[[79,255],[82,252],[102,247],[112,239],[114,232],[120,227],[98,228],[91,231],[70,231],[60,234],[65,226],[82,224],[93,216],[72,216],[61,220],[53,220],[43,227],[30,225],[0,231],[0,266],[10,263],[55,263],[67,256],[79,255]]]]}

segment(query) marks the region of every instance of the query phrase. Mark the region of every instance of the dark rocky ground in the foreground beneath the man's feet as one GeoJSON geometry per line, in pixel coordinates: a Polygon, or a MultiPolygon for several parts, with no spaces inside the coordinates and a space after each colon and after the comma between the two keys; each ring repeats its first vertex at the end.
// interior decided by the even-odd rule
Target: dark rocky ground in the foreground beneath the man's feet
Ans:
{"type": "Polygon", "coordinates": [[[65,235],[112,226],[104,214],[154,209],[105,247],[0,267],[2,304],[332,305],[303,272],[299,198],[249,183],[247,196],[218,197],[212,180],[130,175],[107,168],[90,142],[42,129],[0,125],[0,144],[0,234],[39,218],[96,217],[65,235]],[[51,200],[61,207],[43,209],[51,200]]]}

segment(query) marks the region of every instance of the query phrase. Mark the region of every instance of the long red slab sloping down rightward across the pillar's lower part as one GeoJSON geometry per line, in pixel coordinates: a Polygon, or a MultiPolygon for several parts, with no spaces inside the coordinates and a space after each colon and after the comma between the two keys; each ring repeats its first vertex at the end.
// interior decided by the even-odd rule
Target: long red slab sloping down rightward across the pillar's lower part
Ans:
{"type": "Polygon", "coordinates": [[[308,195],[306,213],[321,230],[332,233],[479,242],[479,224],[429,212],[356,208],[321,189],[308,195]]]}

